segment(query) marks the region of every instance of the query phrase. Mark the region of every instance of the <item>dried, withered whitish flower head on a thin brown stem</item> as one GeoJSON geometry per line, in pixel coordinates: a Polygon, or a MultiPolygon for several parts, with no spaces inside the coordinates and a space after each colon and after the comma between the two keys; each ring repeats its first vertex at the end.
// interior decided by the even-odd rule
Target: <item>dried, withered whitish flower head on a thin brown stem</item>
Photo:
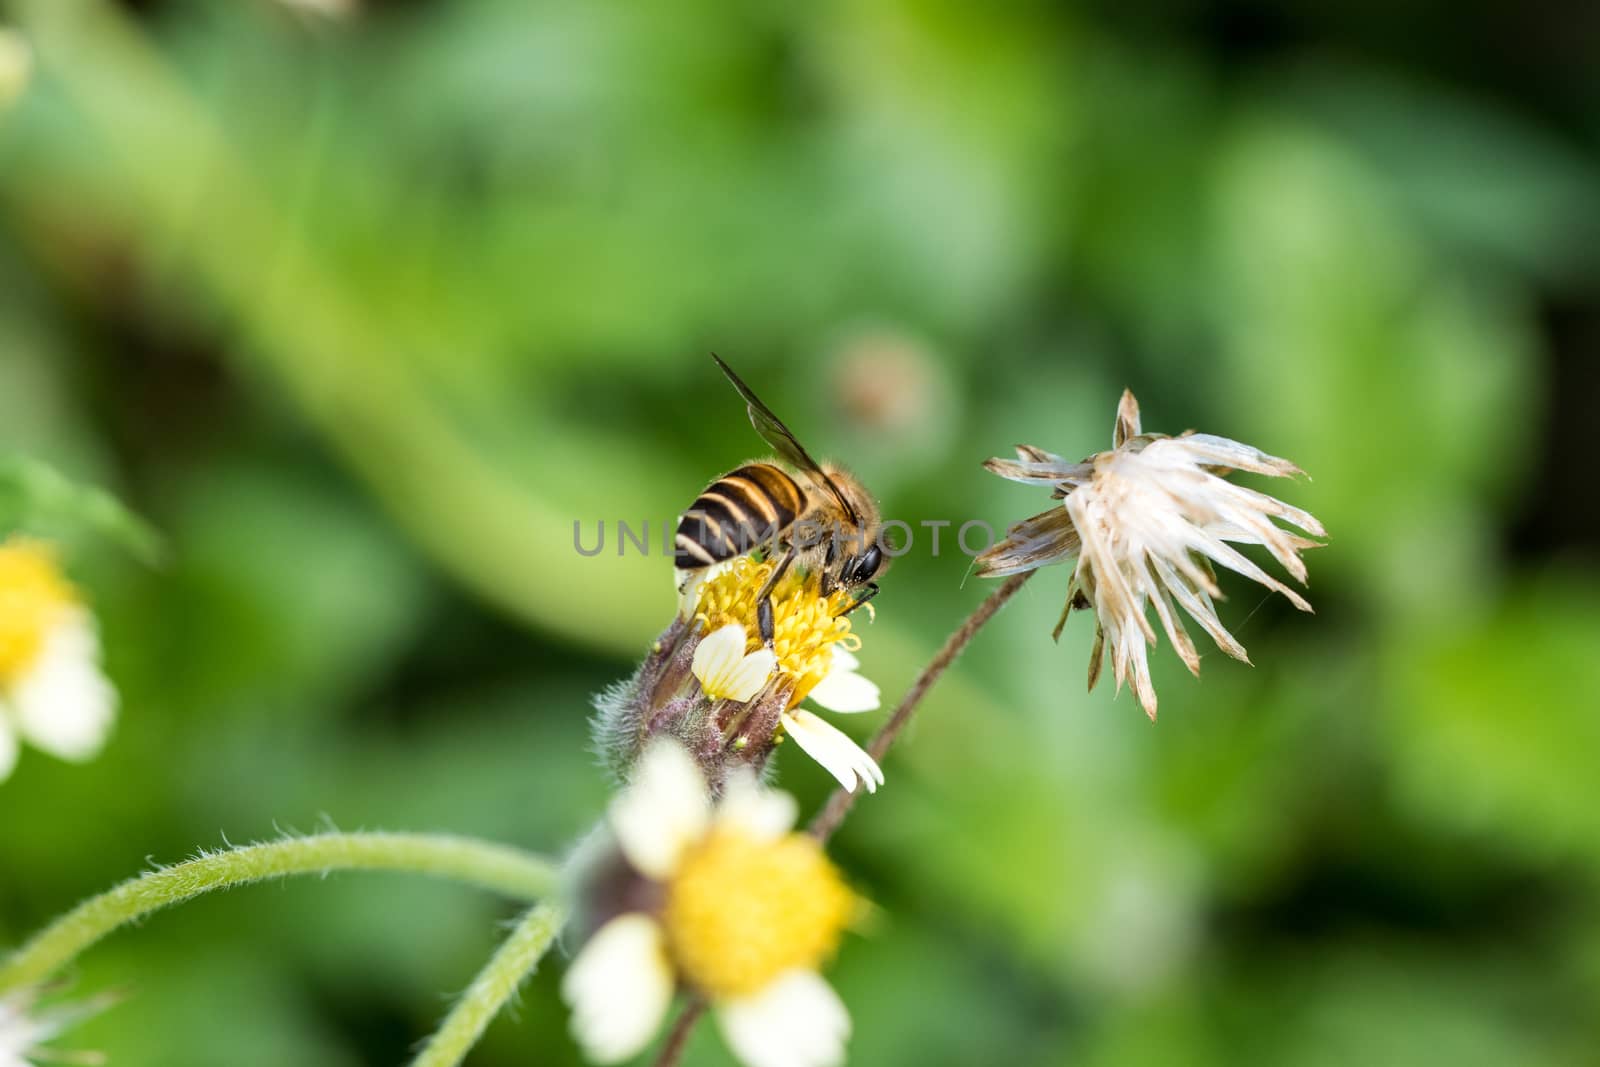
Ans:
{"type": "Polygon", "coordinates": [[[1091,689],[1109,645],[1118,691],[1131,678],[1146,713],[1155,718],[1155,688],[1146,657],[1147,646],[1155,645],[1155,629],[1147,605],[1154,605],[1162,629],[1192,673],[1200,673],[1200,653],[1178,608],[1189,613],[1218,648],[1250,662],[1245,646],[1218,619],[1214,600],[1222,592],[1213,563],[1283,593],[1301,611],[1312,609],[1304,597],[1234,547],[1262,545],[1306,584],[1299,553],[1318,542],[1274,520],[1315,537],[1326,536],[1322,523],[1224,477],[1234,470],[1272,477],[1304,474],[1290,461],[1211,434],[1144,434],[1139,402],[1131,392],[1123,392],[1117,408],[1110,451],[1077,464],[1027,445],[1016,451],[1018,459],[990,459],[984,466],[1002,478],[1050,488],[1061,504],[1011,526],[1005,541],[978,557],[978,573],[998,577],[1077,558],[1056,637],[1074,608],[1094,609],[1091,689]]]}

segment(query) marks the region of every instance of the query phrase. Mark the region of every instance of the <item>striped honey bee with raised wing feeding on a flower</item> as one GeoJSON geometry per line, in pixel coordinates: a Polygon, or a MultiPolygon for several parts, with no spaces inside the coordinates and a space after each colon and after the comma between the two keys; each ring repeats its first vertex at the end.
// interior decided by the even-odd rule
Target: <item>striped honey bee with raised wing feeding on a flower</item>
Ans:
{"type": "Polygon", "coordinates": [[[878,545],[878,506],[850,472],[811,459],[733,368],[715,354],[710,358],[744,397],[755,432],[795,469],[795,475],[758,461],[706,486],[683,512],[674,536],[678,587],[715,563],[765,547],[778,565],[757,593],[757,624],[762,641],[771,645],[771,592],[790,565],[819,573],[824,597],[835,589],[850,590],[853,600],[843,614],[878,593],[872,581],[885,563],[878,545]]]}

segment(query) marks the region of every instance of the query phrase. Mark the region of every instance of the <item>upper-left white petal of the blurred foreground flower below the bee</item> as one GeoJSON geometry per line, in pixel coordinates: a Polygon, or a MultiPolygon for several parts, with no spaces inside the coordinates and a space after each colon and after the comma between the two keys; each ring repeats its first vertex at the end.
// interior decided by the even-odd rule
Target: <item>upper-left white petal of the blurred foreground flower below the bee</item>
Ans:
{"type": "Polygon", "coordinates": [[[683,745],[662,739],[638,758],[634,781],[611,801],[610,822],[627,862],[664,881],[706,833],[709,814],[699,766],[683,745]]]}

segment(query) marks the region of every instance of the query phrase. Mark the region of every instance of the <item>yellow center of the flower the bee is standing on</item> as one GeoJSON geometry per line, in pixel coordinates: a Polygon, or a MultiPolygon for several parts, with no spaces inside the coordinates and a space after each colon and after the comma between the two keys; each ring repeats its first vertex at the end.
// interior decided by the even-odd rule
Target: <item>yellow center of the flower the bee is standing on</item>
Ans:
{"type": "MultiPolygon", "coordinates": [[[[755,597],[773,573],[774,563],[757,563],[739,557],[725,571],[704,582],[694,603],[694,621],[702,633],[710,633],[730,622],[738,622],[749,635],[746,653],[762,646],[760,625],[755,616],[755,597]]],[[[824,597],[821,581],[814,574],[798,574],[790,569],[773,587],[773,653],[778,654],[778,670],[794,680],[789,707],[797,705],[827,673],[834,661],[830,645],[848,651],[861,648],[861,637],[850,632],[850,619],[842,613],[850,608],[851,597],[835,589],[824,597]]],[[[867,609],[870,611],[870,605],[867,609]]]]}

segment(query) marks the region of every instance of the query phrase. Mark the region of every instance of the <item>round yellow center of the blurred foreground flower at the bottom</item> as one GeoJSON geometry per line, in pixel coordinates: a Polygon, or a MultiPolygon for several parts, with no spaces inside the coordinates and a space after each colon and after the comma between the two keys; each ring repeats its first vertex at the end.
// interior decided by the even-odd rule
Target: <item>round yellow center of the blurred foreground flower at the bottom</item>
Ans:
{"type": "Polygon", "coordinates": [[[838,947],[856,896],[803,833],[763,841],[712,830],[667,885],[662,925],[685,977],[712,998],[816,969],[838,947]]]}

